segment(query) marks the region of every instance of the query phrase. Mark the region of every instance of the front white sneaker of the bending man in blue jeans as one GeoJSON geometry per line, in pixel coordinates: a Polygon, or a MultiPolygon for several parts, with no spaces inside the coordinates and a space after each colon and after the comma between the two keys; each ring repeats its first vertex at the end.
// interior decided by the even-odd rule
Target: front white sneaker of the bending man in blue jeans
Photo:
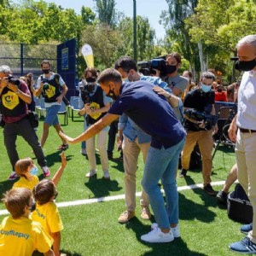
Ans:
{"type": "Polygon", "coordinates": [[[141,240],[148,242],[169,242],[174,240],[174,236],[171,229],[168,233],[164,233],[158,227],[156,227],[148,234],[141,236],[141,240]]]}

